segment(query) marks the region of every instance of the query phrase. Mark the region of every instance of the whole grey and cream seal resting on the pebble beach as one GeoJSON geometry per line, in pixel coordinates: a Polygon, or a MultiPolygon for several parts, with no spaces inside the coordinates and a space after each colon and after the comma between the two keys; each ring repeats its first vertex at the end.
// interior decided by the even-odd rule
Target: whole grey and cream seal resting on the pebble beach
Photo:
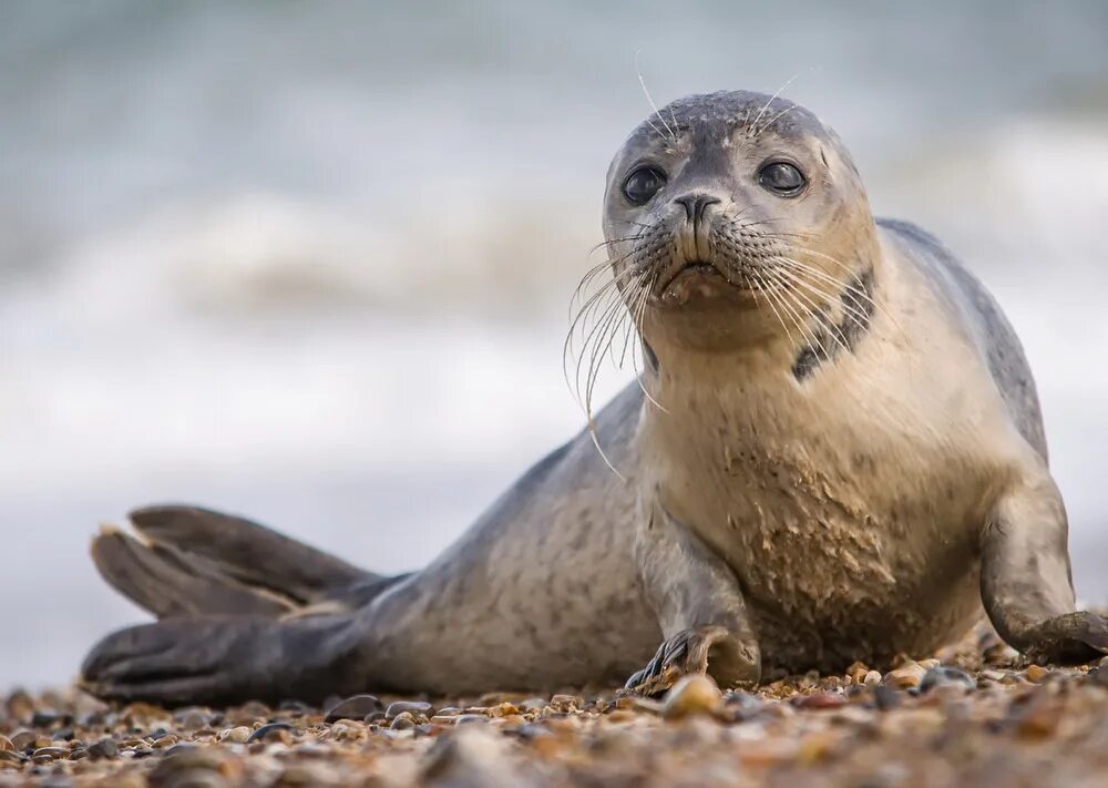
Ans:
{"type": "Polygon", "coordinates": [[[93,556],[161,621],[95,646],[85,686],[171,705],[737,686],[924,655],[983,611],[1036,659],[1108,649],[1075,608],[1015,334],[932,236],[873,218],[815,115],[676,101],[616,154],[603,222],[644,362],[588,429],[409,575],[134,512],[138,539],[93,556]]]}

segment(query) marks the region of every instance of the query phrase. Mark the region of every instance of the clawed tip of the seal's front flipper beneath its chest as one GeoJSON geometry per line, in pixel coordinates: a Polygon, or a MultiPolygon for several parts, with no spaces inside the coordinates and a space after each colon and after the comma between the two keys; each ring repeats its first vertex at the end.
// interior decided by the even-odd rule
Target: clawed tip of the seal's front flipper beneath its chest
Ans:
{"type": "Polygon", "coordinates": [[[761,674],[758,649],[743,646],[721,626],[683,630],[624,686],[640,695],[659,695],[693,673],[707,673],[721,687],[756,685],[761,674]]]}

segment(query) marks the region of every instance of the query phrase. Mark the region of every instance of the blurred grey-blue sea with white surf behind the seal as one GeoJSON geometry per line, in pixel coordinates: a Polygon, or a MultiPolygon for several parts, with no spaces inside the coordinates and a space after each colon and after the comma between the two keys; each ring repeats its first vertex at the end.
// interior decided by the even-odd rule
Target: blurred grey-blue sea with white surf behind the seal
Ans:
{"type": "Polygon", "coordinates": [[[1102,1],[6,2],[0,690],[144,618],[86,554],[133,505],[399,571],[579,429],[562,342],[636,52],[659,104],[796,78],[874,212],[993,288],[1108,602],[1102,1]]]}

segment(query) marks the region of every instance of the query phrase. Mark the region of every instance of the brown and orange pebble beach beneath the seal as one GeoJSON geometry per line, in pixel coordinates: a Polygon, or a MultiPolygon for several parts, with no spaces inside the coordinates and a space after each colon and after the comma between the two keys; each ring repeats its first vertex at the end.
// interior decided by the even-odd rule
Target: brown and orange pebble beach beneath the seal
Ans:
{"type": "Polygon", "coordinates": [[[302,704],[172,713],[133,704],[113,712],[64,694],[7,703],[0,696],[0,788],[893,788],[972,785],[981,775],[996,785],[1102,781],[1108,693],[1097,685],[1108,679],[1108,663],[1092,671],[986,664],[972,643],[943,649],[941,658],[897,665],[890,673],[922,671],[903,689],[855,664],[844,675],[722,695],[699,677],[660,702],[603,687],[550,700],[499,693],[423,705],[388,697],[369,715],[334,723],[302,704]],[[983,665],[993,679],[981,677],[983,665]],[[982,688],[966,692],[974,679],[982,688]],[[13,704],[19,716],[8,712],[13,704]],[[53,722],[21,729],[35,709],[53,722]],[[359,722],[366,717],[380,724],[359,722]]]}

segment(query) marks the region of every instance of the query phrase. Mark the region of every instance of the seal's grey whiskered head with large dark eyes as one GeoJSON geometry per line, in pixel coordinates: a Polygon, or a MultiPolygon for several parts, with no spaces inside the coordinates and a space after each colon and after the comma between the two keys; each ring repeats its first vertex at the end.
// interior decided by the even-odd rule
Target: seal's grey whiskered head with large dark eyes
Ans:
{"type": "Polygon", "coordinates": [[[608,170],[604,234],[644,330],[749,342],[831,310],[864,311],[876,235],[838,136],[790,101],[693,95],[647,117],[608,170]]]}

